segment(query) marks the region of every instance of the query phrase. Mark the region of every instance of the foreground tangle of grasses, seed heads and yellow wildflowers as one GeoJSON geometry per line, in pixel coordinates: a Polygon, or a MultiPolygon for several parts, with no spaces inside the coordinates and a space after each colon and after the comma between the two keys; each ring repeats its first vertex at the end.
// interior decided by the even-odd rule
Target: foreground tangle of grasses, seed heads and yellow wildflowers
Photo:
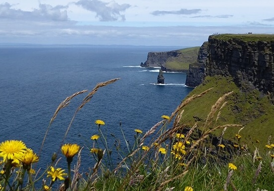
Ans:
{"type": "MultiPolygon", "coordinates": [[[[262,151],[259,148],[262,143],[257,141],[251,153],[242,143],[246,138],[244,126],[219,122],[223,111],[227,112],[226,101],[234,94],[229,90],[232,87],[228,87],[220,97],[210,98],[210,106],[207,105],[203,111],[208,111],[206,119],[199,123],[196,121],[191,125],[182,122],[188,112],[187,106],[209,95],[214,89],[190,95],[170,116],[162,115],[162,119],[146,131],[135,129],[132,135],[125,135],[120,124],[124,139],[120,140],[115,135],[112,137],[115,139],[116,154],[121,158],[118,164],[113,162],[109,139],[101,131],[108,128],[102,119],[94,119],[98,134],[90,135],[92,146],[64,144],[78,111],[101,87],[117,80],[99,83],[79,104],[63,137],[60,151],[52,155],[52,162],[44,172],[33,169],[43,144],[39,154],[36,154],[20,140],[1,142],[0,191],[271,191],[274,188],[274,144],[271,139],[265,137],[268,142],[263,146],[267,150],[262,151]],[[237,132],[230,137],[235,141],[228,143],[224,137],[229,129],[237,132]],[[221,132],[218,142],[209,146],[211,134],[216,131],[221,132]],[[134,136],[134,143],[129,143],[127,136],[134,136]],[[87,172],[80,172],[81,151],[87,147],[94,166],[87,172]],[[65,156],[67,168],[59,168],[59,152],[65,156]]],[[[57,114],[75,96],[86,92],[77,92],[61,102],[48,129],[57,114]]],[[[46,136],[47,133],[44,141],[46,136]]]]}

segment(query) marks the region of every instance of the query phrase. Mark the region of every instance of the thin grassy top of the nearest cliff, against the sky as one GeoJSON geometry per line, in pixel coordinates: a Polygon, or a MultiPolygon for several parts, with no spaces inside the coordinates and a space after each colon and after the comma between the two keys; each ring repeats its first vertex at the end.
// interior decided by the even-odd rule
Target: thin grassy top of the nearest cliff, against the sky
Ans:
{"type": "Polygon", "coordinates": [[[211,35],[209,38],[219,40],[241,39],[244,42],[274,41],[274,34],[219,34],[211,35]]]}

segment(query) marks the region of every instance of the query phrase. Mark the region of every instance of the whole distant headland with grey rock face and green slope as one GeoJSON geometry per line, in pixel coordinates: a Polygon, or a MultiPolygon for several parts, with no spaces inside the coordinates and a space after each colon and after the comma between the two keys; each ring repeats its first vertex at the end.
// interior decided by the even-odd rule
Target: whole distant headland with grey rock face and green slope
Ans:
{"type": "Polygon", "coordinates": [[[163,71],[188,71],[189,64],[196,62],[199,47],[184,48],[168,52],[149,52],[141,67],[161,67],[163,71]]]}

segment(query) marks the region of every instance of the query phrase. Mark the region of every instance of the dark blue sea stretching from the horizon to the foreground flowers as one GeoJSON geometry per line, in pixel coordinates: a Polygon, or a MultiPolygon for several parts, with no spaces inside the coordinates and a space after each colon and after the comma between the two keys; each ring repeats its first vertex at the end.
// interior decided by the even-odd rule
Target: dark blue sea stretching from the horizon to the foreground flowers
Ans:
{"type": "MultiPolygon", "coordinates": [[[[158,69],[138,67],[149,51],[169,50],[172,48],[0,47],[0,142],[22,140],[38,153],[50,118],[61,101],[114,78],[121,79],[101,88],[80,110],[65,142],[91,145],[90,136],[98,134],[96,119],[105,121],[101,129],[109,140],[110,133],[123,139],[121,121],[127,139],[133,141],[134,129],[151,128],[161,115],[170,115],[192,90],[184,86],[184,73],[164,73],[166,85],[158,86],[158,69]]],[[[58,113],[39,166],[46,167],[51,162],[52,153],[60,148],[74,111],[86,95],[78,95],[58,113]]],[[[94,165],[88,153],[84,148],[83,168],[94,165]]]]}

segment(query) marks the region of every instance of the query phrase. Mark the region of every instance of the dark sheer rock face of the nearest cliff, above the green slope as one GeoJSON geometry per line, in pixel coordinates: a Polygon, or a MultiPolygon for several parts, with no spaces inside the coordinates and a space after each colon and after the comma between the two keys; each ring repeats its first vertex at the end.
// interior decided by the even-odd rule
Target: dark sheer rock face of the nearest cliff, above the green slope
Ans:
{"type": "MultiPolygon", "coordinates": [[[[200,76],[232,76],[243,90],[256,88],[264,93],[274,92],[274,41],[245,42],[239,38],[224,41],[209,36],[207,48],[200,49],[199,55],[201,74],[197,71],[197,74],[192,74],[194,82],[202,82],[200,76]],[[208,54],[206,59],[201,56],[203,54],[208,54]]],[[[190,67],[190,76],[191,69],[193,68],[190,67]]],[[[186,85],[191,86],[188,78],[186,85]]],[[[195,84],[197,85],[198,83],[195,84]]]]}

